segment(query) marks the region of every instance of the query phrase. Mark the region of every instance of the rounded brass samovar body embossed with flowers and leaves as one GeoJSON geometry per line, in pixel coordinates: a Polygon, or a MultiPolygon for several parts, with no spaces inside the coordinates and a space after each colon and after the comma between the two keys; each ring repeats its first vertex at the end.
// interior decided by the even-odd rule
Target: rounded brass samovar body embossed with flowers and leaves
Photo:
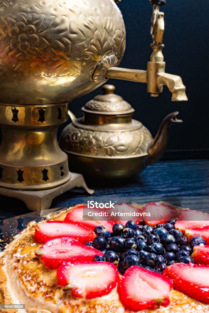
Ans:
{"type": "Polygon", "coordinates": [[[98,63],[118,65],[125,25],[112,0],[1,1],[0,102],[70,102],[106,82],[98,63]]]}

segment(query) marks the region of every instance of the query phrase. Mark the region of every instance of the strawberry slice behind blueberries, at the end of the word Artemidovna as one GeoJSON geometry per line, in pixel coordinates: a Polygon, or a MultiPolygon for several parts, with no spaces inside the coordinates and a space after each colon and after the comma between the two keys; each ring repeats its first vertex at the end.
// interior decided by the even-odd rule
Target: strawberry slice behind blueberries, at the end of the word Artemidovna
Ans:
{"type": "Polygon", "coordinates": [[[176,208],[165,203],[150,202],[142,208],[142,211],[147,214],[147,216],[143,216],[144,221],[153,227],[156,224],[165,224],[178,216],[176,208]]]}

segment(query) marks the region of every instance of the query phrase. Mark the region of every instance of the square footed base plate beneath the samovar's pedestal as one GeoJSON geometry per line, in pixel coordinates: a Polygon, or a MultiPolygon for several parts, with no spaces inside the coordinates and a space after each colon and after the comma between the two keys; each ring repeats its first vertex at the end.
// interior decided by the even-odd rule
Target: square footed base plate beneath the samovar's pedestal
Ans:
{"type": "Polygon", "coordinates": [[[55,188],[43,190],[16,190],[0,187],[0,194],[22,200],[30,211],[42,211],[50,208],[54,198],[74,187],[83,187],[89,194],[94,193],[94,190],[87,187],[81,174],[71,172],[71,179],[55,188]]]}

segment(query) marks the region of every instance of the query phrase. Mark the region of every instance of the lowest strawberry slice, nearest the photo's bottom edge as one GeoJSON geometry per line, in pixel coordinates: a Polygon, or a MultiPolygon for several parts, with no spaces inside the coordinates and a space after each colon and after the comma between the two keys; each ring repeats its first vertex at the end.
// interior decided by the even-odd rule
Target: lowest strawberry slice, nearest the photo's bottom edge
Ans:
{"type": "Polygon", "coordinates": [[[132,266],[118,284],[120,300],[126,310],[140,311],[167,306],[172,280],[142,267],[132,266]]]}

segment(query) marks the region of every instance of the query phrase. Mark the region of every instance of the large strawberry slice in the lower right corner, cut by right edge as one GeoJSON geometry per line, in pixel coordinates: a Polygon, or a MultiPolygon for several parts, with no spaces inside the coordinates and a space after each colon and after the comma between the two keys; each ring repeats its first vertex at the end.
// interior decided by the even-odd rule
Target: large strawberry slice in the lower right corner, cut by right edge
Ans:
{"type": "Polygon", "coordinates": [[[176,290],[209,304],[209,266],[176,263],[166,267],[163,274],[173,279],[176,290]]]}

